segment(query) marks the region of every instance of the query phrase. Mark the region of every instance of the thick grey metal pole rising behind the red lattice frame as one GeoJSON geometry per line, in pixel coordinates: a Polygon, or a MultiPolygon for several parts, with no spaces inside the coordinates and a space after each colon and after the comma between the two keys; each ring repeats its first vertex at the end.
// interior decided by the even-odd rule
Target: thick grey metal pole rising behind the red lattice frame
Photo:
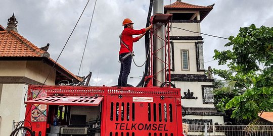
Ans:
{"type": "MultiPolygon", "coordinates": [[[[163,14],[164,10],[163,10],[163,0],[157,0],[154,1],[154,14],[163,14]]],[[[154,47],[153,50],[156,51],[155,52],[155,56],[161,60],[165,60],[165,51],[163,49],[160,49],[161,47],[164,46],[164,25],[163,23],[156,23],[154,24],[154,29],[157,29],[154,34],[157,35],[153,37],[153,41],[154,41],[154,47]],[[158,28],[158,29],[157,29],[158,28]],[[162,38],[162,39],[160,39],[162,38]]],[[[160,61],[159,59],[157,59],[156,57],[154,57],[154,67],[153,67],[153,73],[158,73],[156,75],[154,75],[154,86],[160,86],[164,80],[165,80],[165,73],[164,71],[162,71],[164,69],[164,63],[162,61],[160,61]],[[161,83],[160,83],[161,82],[161,83]]]]}

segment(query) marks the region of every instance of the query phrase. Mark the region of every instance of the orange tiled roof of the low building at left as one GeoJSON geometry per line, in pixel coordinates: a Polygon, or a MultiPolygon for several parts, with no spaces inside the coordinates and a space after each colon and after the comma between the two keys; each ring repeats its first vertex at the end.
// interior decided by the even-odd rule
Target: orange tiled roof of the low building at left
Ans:
{"type": "MultiPolygon", "coordinates": [[[[41,50],[33,43],[25,39],[23,36],[18,34],[15,31],[6,31],[0,25],[0,57],[5,58],[37,58],[42,57],[44,59],[48,59],[50,63],[55,63],[56,61],[50,58],[50,54],[47,51],[41,50]]],[[[66,75],[72,76],[74,79],[81,81],[77,76],[69,72],[65,67],[61,64],[56,63],[60,69],[59,73],[67,73],[66,75]],[[64,72],[61,72],[64,71],[64,72]]],[[[56,67],[55,66],[55,67],[56,67]]]]}

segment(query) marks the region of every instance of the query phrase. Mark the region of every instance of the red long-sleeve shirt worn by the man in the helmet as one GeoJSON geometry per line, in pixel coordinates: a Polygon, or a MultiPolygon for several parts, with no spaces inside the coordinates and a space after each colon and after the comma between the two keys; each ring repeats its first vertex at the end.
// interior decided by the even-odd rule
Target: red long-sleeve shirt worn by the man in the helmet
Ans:
{"type": "Polygon", "coordinates": [[[121,53],[129,53],[133,51],[133,42],[139,41],[139,37],[132,37],[132,35],[139,35],[145,33],[145,28],[141,30],[134,30],[130,28],[125,28],[121,35],[121,40],[128,46],[129,50],[126,48],[125,45],[120,43],[120,50],[119,54],[121,53]]]}

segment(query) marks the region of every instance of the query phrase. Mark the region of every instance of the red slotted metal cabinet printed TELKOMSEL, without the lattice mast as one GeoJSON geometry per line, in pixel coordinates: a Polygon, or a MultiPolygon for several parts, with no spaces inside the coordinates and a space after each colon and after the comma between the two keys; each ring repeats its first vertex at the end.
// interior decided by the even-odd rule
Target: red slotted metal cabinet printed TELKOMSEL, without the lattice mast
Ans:
{"type": "MultiPolygon", "coordinates": [[[[102,136],[115,135],[116,133],[118,135],[128,133],[135,136],[154,135],[155,133],[157,135],[171,135],[171,133],[172,135],[182,135],[183,132],[180,89],[177,88],[29,86],[25,126],[32,126],[36,133],[35,136],[39,131],[41,136],[45,136],[46,129],[52,124],[47,121],[31,121],[31,107],[33,104],[39,104],[38,100],[40,99],[32,98],[34,91],[45,91],[48,99],[60,96],[61,99],[73,97],[84,100],[94,96],[101,98],[102,136]],[[117,105],[122,108],[117,110],[117,105]],[[115,114],[117,111],[120,113],[118,116],[115,114]]],[[[64,103],[43,104],[64,105],[64,103]]],[[[67,105],[80,106],[82,103],[67,105]]],[[[47,110],[47,112],[50,111],[47,110]]]]}

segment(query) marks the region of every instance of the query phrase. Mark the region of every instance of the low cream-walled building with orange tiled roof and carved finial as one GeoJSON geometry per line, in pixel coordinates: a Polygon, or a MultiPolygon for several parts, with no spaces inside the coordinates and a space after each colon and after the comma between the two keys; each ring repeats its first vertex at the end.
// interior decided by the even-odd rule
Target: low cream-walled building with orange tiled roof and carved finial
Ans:
{"type": "Polygon", "coordinates": [[[10,135],[13,122],[24,120],[28,85],[42,85],[45,79],[45,85],[80,80],[59,63],[52,69],[55,60],[47,49],[38,48],[17,33],[14,15],[6,29],[0,25],[0,135],[10,135]]]}

